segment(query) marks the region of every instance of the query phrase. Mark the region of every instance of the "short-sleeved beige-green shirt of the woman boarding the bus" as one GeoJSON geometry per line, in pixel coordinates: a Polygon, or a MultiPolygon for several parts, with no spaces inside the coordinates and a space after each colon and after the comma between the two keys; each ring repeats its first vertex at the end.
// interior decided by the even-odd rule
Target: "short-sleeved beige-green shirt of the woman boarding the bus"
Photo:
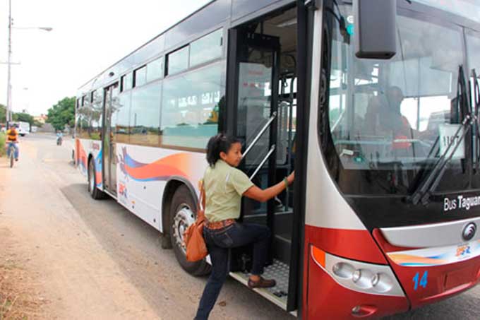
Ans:
{"type": "Polygon", "coordinates": [[[210,222],[236,219],[240,216],[241,195],[253,183],[244,172],[218,160],[205,170],[205,217],[210,222]]]}

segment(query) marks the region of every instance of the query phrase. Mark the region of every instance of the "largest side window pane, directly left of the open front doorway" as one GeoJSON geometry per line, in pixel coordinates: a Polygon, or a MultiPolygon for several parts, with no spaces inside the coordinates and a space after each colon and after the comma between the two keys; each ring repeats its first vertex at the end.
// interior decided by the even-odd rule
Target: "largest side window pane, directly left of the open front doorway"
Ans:
{"type": "Polygon", "coordinates": [[[217,134],[222,70],[222,64],[215,64],[164,81],[163,145],[203,149],[217,134]]]}

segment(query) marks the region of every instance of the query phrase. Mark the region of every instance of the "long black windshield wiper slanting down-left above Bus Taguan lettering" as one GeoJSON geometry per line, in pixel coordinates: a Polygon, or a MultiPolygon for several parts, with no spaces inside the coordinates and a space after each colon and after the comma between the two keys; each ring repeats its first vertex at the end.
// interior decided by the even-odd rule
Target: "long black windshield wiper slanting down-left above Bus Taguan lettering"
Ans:
{"type": "Polygon", "coordinates": [[[453,136],[452,139],[450,139],[450,142],[448,143],[447,148],[445,148],[445,151],[443,151],[442,155],[440,155],[440,158],[436,162],[435,165],[433,165],[431,172],[428,173],[428,176],[426,179],[424,179],[421,184],[415,189],[413,192],[412,196],[409,196],[409,200],[412,201],[413,204],[419,203],[421,201],[422,204],[427,204],[428,199],[430,198],[431,192],[436,189],[438,186],[438,183],[440,183],[440,180],[443,177],[443,174],[445,173],[445,169],[447,167],[448,162],[452,159],[452,156],[455,154],[455,151],[457,151],[457,148],[460,146],[462,141],[464,141],[465,136],[467,135],[467,132],[469,129],[472,127],[472,124],[474,124],[476,120],[476,114],[473,114],[472,109],[469,108],[469,100],[467,98],[467,93],[466,93],[466,84],[465,84],[465,78],[464,78],[464,72],[463,72],[463,67],[460,66],[459,72],[458,72],[458,90],[457,90],[457,101],[460,101],[460,107],[462,107],[462,114],[463,111],[465,110],[465,103],[467,104],[467,108],[469,109],[469,114],[464,116],[464,119],[462,120],[462,125],[457,129],[455,132],[455,136],[453,136]],[[462,131],[462,136],[458,138],[458,134],[462,131]],[[453,149],[452,149],[453,148],[453,149]],[[452,149],[452,152],[450,150],[452,149]],[[448,155],[448,156],[447,156],[448,155]]]}

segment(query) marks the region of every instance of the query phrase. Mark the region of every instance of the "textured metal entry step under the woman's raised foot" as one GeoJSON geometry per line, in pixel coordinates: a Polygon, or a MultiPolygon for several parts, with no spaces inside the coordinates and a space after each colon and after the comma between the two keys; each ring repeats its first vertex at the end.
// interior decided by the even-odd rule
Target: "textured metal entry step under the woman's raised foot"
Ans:
{"type": "MultiPolygon", "coordinates": [[[[248,273],[231,272],[230,276],[244,285],[248,285],[248,273]]],[[[262,275],[266,279],[275,279],[277,285],[273,288],[253,289],[265,299],[277,304],[278,307],[287,310],[289,266],[278,260],[274,260],[271,266],[265,268],[262,275]]]]}

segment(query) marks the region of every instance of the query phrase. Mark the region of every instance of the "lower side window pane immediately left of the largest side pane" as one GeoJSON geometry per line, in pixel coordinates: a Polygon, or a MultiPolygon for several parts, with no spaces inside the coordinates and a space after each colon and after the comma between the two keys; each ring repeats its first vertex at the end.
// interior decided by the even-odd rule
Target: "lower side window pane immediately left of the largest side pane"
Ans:
{"type": "Polygon", "coordinates": [[[159,145],[160,82],[133,90],[130,112],[130,143],[144,146],[159,145]]]}

